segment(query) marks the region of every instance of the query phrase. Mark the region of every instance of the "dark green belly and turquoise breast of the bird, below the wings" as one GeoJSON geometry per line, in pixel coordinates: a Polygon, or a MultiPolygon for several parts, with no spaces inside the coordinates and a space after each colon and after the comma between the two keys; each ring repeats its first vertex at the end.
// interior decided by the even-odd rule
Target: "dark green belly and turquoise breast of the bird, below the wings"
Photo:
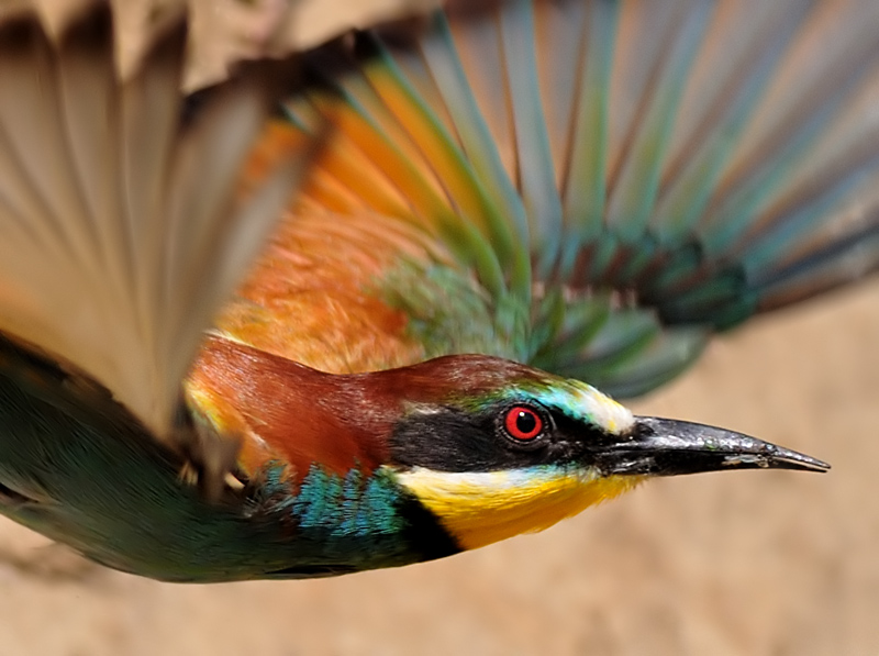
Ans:
{"type": "Polygon", "coordinates": [[[290,478],[268,463],[253,485],[210,499],[181,483],[183,460],[103,390],[0,347],[0,512],[99,563],[220,581],[392,567],[457,551],[382,469],[338,476],[315,464],[290,478]]]}

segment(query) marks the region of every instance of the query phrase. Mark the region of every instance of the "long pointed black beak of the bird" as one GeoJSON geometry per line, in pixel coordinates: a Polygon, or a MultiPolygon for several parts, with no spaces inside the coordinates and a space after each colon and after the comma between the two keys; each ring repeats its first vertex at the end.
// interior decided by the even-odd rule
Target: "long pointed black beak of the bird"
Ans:
{"type": "Polygon", "coordinates": [[[826,463],[769,442],[686,421],[637,416],[628,436],[598,449],[605,476],[678,476],[721,469],[826,471],[826,463]]]}

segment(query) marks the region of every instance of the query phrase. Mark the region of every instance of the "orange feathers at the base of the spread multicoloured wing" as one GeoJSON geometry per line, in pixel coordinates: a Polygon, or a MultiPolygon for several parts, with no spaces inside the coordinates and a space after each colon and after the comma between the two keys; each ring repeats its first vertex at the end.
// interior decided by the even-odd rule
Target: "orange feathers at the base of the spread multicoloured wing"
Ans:
{"type": "MultiPolygon", "coordinates": [[[[302,147],[305,141],[293,126],[271,125],[247,168],[245,190],[271,170],[274,160],[302,147]]],[[[314,168],[218,330],[335,374],[423,359],[421,345],[404,333],[405,314],[370,293],[401,257],[425,257],[423,236],[400,221],[357,208],[355,197],[346,202],[344,193],[326,189],[322,167],[314,168]],[[314,202],[315,197],[334,202],[314,202]]]]}

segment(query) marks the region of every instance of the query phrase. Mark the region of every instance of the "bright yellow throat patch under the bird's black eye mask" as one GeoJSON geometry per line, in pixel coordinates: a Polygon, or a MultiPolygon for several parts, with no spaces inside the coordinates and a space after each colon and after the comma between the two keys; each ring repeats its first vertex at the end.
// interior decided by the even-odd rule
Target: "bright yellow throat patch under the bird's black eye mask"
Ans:
{"type": "Polygon", "coordinates": [[[555,467],[487,472],[415,467],[398,472],[397,478],[466,549],[543,531],[631,490],[644,479],[602,478],[593,469],[555,467]]]}

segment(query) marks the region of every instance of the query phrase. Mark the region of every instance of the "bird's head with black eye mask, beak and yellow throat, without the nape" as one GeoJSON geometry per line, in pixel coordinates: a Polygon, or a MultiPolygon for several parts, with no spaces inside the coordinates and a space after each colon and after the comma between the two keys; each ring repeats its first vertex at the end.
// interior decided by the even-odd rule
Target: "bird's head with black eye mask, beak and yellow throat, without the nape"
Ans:
{"type": "Polygon", "coordinates": [[[732,431],[636,416],[579,380],[499,358],[370,376],[400,400],[389,440],[397,479],[461,548],[541,531],[654,476],[827,469],[732,431]]]}

